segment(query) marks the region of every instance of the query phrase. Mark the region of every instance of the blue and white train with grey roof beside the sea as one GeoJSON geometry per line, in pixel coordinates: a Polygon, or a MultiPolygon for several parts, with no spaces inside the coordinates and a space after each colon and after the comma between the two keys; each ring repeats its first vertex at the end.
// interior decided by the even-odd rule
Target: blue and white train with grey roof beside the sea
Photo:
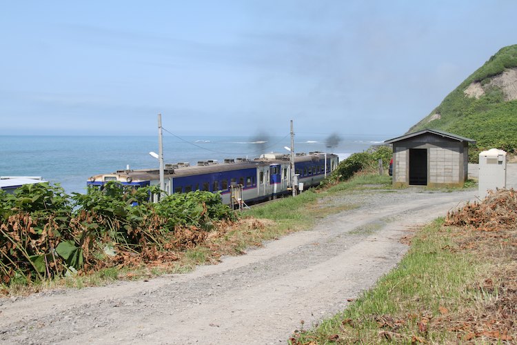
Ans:
{"type": "MultiPolygon", "coordinates": [[[[294,159],[296,174],[304,188],[317,186],[337,165],[337,155],[322,152],[297,154],[294,159]]],[[[290,156],[267,153],[254,160],[225,159],[222,164],[217,161],[199,161],[196,166],[165,164],[164,179],[168,194],[206,190],[221,193],[224,204],[241,201],[249,204],[291,193],[290,156]]],[[[87,186],[103,186],[108,181],[119,181],[133,188],[159,185],[159,170],[117,170],[94,175],[87,186]]],[[[158,197],[153,196],[155,201],[158,197]]]]}

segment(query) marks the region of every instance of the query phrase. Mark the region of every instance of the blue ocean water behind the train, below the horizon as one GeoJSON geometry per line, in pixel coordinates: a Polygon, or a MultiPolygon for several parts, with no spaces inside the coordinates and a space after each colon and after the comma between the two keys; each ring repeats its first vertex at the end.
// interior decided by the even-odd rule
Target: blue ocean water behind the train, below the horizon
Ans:
{"type": "MultiPolygon", "coordinates": [[[[325,147],[325,136],[295,135],[295,152],[332,152],[340,161],[354,152],[367,150],[385,138],[356,135],[341,138],[336,146],[325,147]]],[[[207,159],[247,157],[264,152],[288,151],[285,137],[250,138],[235,136],[176,137],[163,133],[165,163],[179,161],[196,164],[207,159]]],[[[92,175],[132,169],[158,168],[159,161],[149,155],[158,152],[158,136],[0,136],[0,176],[41,176],[51,184],[60,184],[65,193],[85,193],[92,175]]]]}

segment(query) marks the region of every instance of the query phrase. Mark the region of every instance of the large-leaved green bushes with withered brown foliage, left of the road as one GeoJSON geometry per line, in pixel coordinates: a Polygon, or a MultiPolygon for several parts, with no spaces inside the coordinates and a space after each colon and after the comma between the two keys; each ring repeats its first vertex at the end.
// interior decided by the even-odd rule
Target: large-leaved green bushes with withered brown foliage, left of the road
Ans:
{"type": "Polygon", "coordinates": [[[114,182],[71,197],[48,184],[25,185],[14,195],[0,191],[1,282],[174,261],[174,250],[203,241],[214,222],[235,219],[219,195],[197,191],[148,202],[157,192],[114,182]]]}

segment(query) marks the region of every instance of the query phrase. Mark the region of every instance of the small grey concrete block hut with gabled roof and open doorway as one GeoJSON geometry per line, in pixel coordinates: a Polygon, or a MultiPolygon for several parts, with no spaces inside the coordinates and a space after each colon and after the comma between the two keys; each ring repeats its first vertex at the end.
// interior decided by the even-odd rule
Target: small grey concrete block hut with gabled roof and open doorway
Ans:
{"type": "Polygon", "coordinates": [[[393,145],[393,186],[463,186],[473,139],[440,130],[420,130],[389,139],[393,145]]]}

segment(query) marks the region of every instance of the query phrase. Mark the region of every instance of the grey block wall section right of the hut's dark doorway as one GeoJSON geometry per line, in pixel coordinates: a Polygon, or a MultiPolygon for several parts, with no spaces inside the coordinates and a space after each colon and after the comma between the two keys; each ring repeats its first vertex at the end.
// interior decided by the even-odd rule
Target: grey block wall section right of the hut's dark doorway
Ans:
{"type": "MultiPolygon", "coordinates": [[[[460,179],[459,148],[429,148],[429,184],[458,184],[460,179]]],[[[463,169],[461,169],[463,170],[463,169]]]]}

